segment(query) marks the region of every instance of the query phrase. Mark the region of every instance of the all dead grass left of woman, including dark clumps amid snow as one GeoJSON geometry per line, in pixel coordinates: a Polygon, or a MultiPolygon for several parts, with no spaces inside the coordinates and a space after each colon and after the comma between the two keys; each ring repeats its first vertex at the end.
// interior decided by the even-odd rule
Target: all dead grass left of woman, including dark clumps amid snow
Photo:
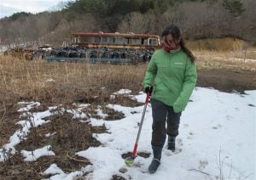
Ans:
{"type": "MultiPolygon", "coordinates": [[[[108,113],[107,120],[119,120],[123,114],[105,107],[110,103],[109,95],[120,87],[126,87],[137,93],[145,65],[92,65],[77,63],[48,63],[43,60],[26,61],[10,56],[0,56],[0,135],[1,147],[8,143],[9,137],[19,128],[20,108],[17,102],[39,101],[41,105],[32,111],[44,111],[51,105],[62,104],[73,108],[73,103],[91,104],[91,115],[96,115],[96,106],[101,105],[103,113],[108,113]],[[48,81],[54,80],[54,81],[48,81]]],[[[137,103],[119,96],[113,103],[135,106],[137,103]]],[[[92,133],[106,132],[106,127],[90,127],[86,123],[72,120],[72,116],[50,116],[50,122],[42,127],[32,128],[26,141],[15,146],[33,150],[51,145],[54,157],[40,158],[36,162],[26,163],[17,153],[5,163],[1,163],[0,174],[5,179],[41,179],[50,164],[56,163],[64,172],[79,170],[90,161],[79,162],[74,155],[79,150],[98,146],[92,133]],[[55,136],[45,138],[45,134],[56,132],[55,136]],[[68,158],[72,157],[73,159],[68,158]]],[[[82,160],[83,161],[83,160],[82,160]]]]}

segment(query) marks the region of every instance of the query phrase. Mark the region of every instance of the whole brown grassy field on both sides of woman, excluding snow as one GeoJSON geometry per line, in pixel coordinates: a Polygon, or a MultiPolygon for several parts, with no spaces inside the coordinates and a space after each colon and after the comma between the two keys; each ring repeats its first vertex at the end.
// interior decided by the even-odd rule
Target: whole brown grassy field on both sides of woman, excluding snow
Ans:
{"type": "MultiPolygon", "coordinates": [[[[197,58],[197,87],[212,87],[228,93],[256,89],[255,48],[247,51],[195,49],[193,53],[197,58]]],[[[49,106],[72,109],[76,104],[90,104],[86,110],[94,118],[97,118],[96,109],[100,105],[109,120],[122,118],[118,111],[108,109],[107,104],[131,107],[142,104],[125,96],[109,97],[121,88],[131,89],[132,94],[142,91],[146,68],[147,65],[48,63],[0,55],[0,147],[8,143],[9,137],[20,128],[16,124],[20,121],[17,110],[24,104],[19,102],[40,102],[41,105],[35,107],[34,112],[43,112],[49,106]]],[[[90,146],[99,146],[101,143],[93,138],[92,133],[105,132],[106,127],[92,127],[71,119],[72,115],[64,112],[63,115],[50,116],[51,122],[44,126],[32,127],[27,139],[15,146],[17,152],[51,144],[56,155],[28,163],[24,162],[20,153],[16,153],[4,163],[0,162],[1,177],[40,179],[44,177],[41,172],[52,162],[65,172],[73,172],[90,164],[89,160],[78,160],[74,153],[90,146]],[[49,130],[56,132],[56,136],[45,140],[44,134],[49,130]]],[[[113,176],[113,179],[118,177],[113,176]]]]}

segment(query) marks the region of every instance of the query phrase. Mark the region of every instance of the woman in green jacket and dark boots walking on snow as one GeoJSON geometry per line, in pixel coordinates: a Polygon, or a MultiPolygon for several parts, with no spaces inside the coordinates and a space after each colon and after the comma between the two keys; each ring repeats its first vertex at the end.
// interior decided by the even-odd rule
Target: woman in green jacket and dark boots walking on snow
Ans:
{"type": "Polygon", "coordinates": [[[167,26],[162,37],[162,48],[153,54],[143,80],[145,93],[151,95],[153,116],[151,145],[154,158],[148,166],[151,173],[160,166],[166,133],[167,149],[175,150],[180,116],[197,79],[195,57],[184,46],[179,28],[167,26]]]}

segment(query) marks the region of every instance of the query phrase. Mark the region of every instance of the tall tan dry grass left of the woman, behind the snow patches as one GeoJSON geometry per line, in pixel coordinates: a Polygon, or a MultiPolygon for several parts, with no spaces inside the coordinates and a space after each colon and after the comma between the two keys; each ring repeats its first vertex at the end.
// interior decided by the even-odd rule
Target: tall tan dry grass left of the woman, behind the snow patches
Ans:
{"type": "Polygon", "coordinates": [[[133,93],[142,90],[145,68],[145,65],[48,63],[0,55],[0,147],[18,129],[17,102],[22,100],[39,101],[42,110],[74,102],[94,107],[101,104],[108,118],[119,119],[122,115],[108,110],[104,104],[139,105],[130,98],[109,99],[109,95],[121,87],[130,88],[133,93]],[[49,79],[54,82],[47,82],[49,79]]]}

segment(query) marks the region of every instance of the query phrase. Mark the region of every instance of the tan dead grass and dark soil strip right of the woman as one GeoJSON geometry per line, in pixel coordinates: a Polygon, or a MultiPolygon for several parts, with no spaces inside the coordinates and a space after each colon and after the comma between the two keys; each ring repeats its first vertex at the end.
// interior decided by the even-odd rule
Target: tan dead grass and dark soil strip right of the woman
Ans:
{"type": "Polygon", "coordinates": [[[256,48],[250,48],[250,59],[241,51],[194,50],[199,87],[243,93],[256,89],[256,48]],[[247,58],[247,57],[246,57],[247,58]]]}

